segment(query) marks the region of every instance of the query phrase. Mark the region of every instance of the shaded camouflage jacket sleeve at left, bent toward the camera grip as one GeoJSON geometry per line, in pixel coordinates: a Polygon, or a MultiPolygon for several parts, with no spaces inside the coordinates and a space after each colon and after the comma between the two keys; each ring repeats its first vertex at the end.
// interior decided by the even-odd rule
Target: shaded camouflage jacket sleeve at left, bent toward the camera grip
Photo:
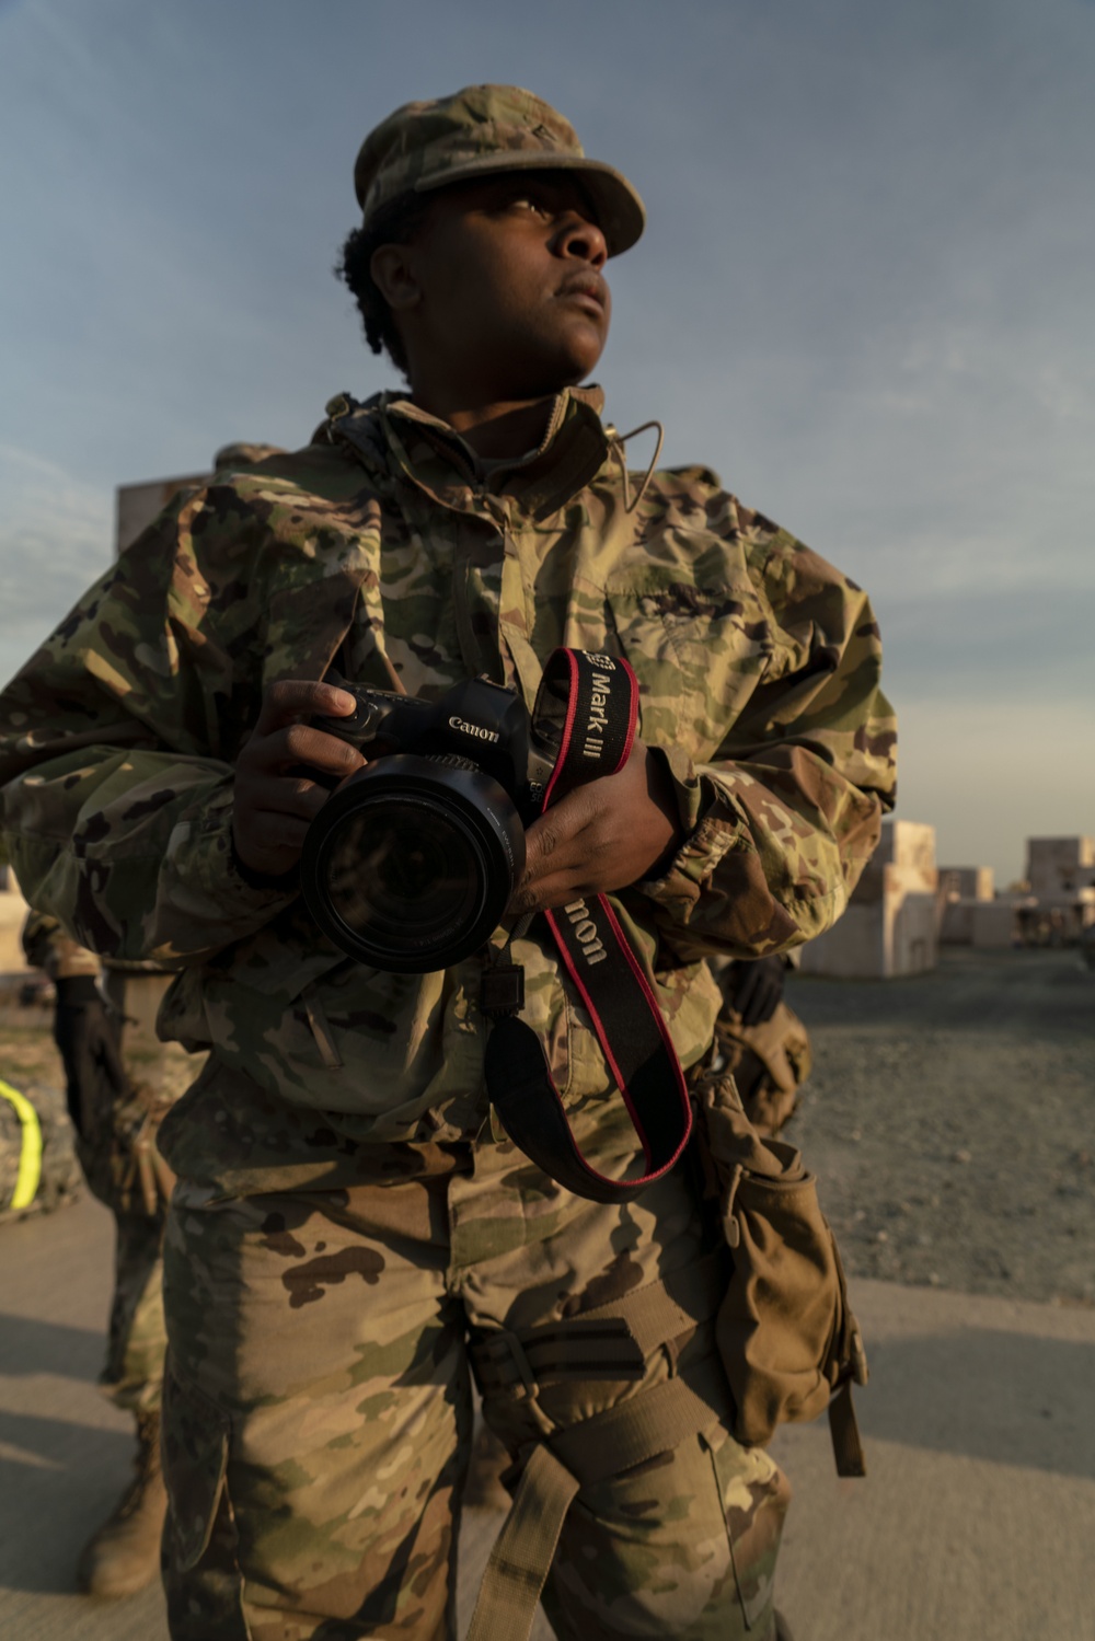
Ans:
{"type": "Polygon", "coordinates": [[[258,709],[240,684],[253,537],[230,489],[184,494],[0,697],[16,878],[100,957],[197,962],[292,899],[231,853],[233,763],[258,709]]]}

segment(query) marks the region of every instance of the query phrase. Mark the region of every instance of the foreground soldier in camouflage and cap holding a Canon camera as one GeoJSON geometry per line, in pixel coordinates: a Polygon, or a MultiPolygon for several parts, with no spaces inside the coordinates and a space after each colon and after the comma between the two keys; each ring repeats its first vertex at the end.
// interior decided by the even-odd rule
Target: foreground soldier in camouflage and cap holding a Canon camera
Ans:
{"type": "Polygon", "coordinates": [[[409,391],[340,395],[307,450],[169,507],[3,699],[26,893],[99,952],[177,965],[161,1029],[210,1050],[161,1131],[171,1633],[451,1634],[471,1357],[517,1488],[476,1641],[525,1634],[545,1575],[561,1638],[767,1641],[788,1487],[731,1433],[721,1227],[685,1167],[591,1201],[517,1150],[484,986],[504,952],[524,968],[575,1144],[617,1178],[630,1119],[529,916],[611,894],[662,1042],[703,1063],[704,955],[819,934],[877,842],[878,629],[706,468],[629,473],[576,384],[644,208],[553,108],[410,103],[355,184],[341,274],[409,391]],[[346,958],[297,880],[363,765],[310,724],[355,709],[332,665],[433,699],[486,674],[532,706],[558,645],[639,678],[619,770],[529,827],[486,952],[346,958]]]}

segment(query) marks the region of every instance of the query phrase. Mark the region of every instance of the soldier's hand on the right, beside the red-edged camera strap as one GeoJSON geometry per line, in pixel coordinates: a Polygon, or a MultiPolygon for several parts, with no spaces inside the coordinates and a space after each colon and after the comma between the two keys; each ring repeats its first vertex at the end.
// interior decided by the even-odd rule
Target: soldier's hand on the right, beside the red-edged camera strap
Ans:
{"type": "Polygon", "coordinates": [[[514,914],[566,906],[647,878],[681,842],[668,773],[637,740],[616,775],[578,786],[534,820],[514,914]]]}

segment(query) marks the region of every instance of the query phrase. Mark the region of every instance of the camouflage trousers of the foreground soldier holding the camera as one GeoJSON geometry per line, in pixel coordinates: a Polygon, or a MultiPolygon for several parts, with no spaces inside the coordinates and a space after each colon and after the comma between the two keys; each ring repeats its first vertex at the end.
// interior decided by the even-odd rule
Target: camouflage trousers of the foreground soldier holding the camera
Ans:
{"type": "MultiPolygon", "coordinates": [[[[601,1167],[617,1139],[622,1159],[627,1137],[606,1132],[601,1167]]],[[[588,1134],[583,1147],[594,1150],[588,1134]]],[[[489,1122],[474,1144],[361,1147],[356,1168],[358,1183],[337,1190],[176,1188],[163,1419],[172,1641],[451,1638],[470,1346],[602,1306],[711,1246],[683,1168],[629,1206],[601,1206],[489,1122]]],[[[711,1334],[655,1351],[639,1382],[486,1393],[486,1419],[511,1454],[527,1451],[711,1359],[711,1334]]],[[[770,1641],[788,1497],[773,1460],[717,1416],[583,1487],[543,1595],[557,1636],[770,1641]]]]}

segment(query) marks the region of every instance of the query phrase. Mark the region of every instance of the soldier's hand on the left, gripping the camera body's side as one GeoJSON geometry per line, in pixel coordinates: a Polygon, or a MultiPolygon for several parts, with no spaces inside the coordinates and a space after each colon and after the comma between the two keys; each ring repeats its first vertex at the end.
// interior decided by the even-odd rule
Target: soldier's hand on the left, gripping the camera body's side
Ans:
{"type": "Polygon", "coordinates": [[[235,850],[250,871],[264,878],[292,871],[332,789],[364,763],[355,747],[307,722],[320,714],[348,717],[355,704],[333,684],[296,679],[271,684],[263,696],[258,724],[236,760],[231,816],[235,850]]]}

